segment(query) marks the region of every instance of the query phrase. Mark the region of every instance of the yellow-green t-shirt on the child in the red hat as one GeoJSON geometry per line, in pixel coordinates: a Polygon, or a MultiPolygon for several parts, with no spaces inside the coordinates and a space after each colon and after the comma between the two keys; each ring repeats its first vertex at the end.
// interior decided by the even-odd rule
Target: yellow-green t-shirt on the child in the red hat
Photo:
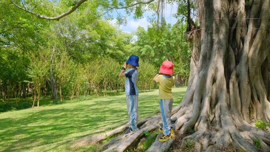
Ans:
{"type": "Polygon", "coordinates": [[[165,75],[158,75],[155,79],[159,83],[159,98],[170,99],[173,98],[171,87],[174,83],[174,76],[167,77],[165,75]]]}

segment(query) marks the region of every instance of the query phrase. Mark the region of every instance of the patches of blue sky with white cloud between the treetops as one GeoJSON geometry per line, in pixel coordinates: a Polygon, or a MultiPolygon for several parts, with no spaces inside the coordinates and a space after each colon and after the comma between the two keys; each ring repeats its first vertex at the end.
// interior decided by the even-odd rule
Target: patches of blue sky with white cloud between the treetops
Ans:
{"type": "MultiPolygon", "coordinates": [[[[117,11],[121,15],[125,15],[124,9],[120,9],[117,11]]],[[[177,21],[177,19],[172,16],[172,14],[176,13],[176,11],[177,11],[177,5],[175,3],[173,3],[172,5],[170,4],[165,5],[164,17],[167,23],[174,24],[177,21]]],[[[153,13],[154,12],[151,12],[151,11],[145,11],[143,13],[143,18],[140,18],[140,19],[134,19],[133,15],[127,16],[127,23],[119,26],[119,25],[116,25],[115,17],[117,16],[117,12],[114,10],[112,13],[114,19],[110,20],[109,22],[111,24],[114,24],[115,26],[118,27],[118,29],[124,32],[132,32],[136,30],[138,26],[141,26],[144,29],[147,29],[147,26],[150,24],[147,18],[152,16],[153,13]]]]}

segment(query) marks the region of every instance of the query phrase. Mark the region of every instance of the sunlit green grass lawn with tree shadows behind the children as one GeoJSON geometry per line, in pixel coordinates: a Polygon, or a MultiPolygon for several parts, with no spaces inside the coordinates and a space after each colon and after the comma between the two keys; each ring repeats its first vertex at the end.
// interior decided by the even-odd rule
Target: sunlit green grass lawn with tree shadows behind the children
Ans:
{"type": "MultiPolygon", "coordinates": [[[[177,105],[185,87],[173,88],[177,105]]],[[[159,111],[158,92],[139,94],[139,119],[159,111]]],[[[65,151],[68,141],[127,122],[125,95],[0,113],[0,151],[65,151]]],[[[73,151],[80,151],[75,149],[73,151]]]]}

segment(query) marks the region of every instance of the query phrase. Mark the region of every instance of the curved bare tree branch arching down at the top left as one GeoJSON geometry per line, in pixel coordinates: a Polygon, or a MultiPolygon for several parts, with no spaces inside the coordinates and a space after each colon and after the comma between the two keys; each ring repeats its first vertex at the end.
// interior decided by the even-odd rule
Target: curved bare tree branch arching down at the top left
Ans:
{"type": "Polygon", "coordinates": [[[62,17],[64,17],[64,16],[66,16],[66,15],[72,13],[73,11],[75,11],[75,10],[76,10],[83,2],[85,2],[85,1],[87,1],[87,0],[78,0],[77,3],[76,3],[71,9],[69,9],[68,11],[66,11],[66,12],[64,12],[64,13],[62,13],[62,14],[59,14],[59,15],[57,15],[57,16],[54,16],[54,17],[48,17],[48,16],[41,15],[41,14],[39,14],[39,13],[33,12],[33,11],[31,11],[31,10],[28,10],[28,9],[26,9],[26,8],[23,8],[23,7],[19,6],[19,5],[16,4],[13,0],[11,0],[11,1],[12,1],[12,3],[13,3],[17,8],[19,8],[19,9],[21,9],[21,10],[24,10],[24,11],[26,11],[26,12],[29,12],[29,13],[31,13],[31,14],[37,16],[38,18],[43,18],[43,19],[48,19],[48,20],[59,20],[60,18],[62,18],[62,17]]]}

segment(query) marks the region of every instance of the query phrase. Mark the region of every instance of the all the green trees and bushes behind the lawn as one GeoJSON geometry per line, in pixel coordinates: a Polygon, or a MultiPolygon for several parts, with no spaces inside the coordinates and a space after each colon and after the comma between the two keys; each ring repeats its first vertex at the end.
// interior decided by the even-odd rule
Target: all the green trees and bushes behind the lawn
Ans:
{"type": "MultiPolygon", "coordinates": [[[[16,0],[20,6],[48,16],[70,9],[76,1],[16,0]]],[[[0,1],[1,100],[45,96],[52,94],[54,87],[58,96],[69,99],[122,92],[124,80],[118,73],[132,53],[140,57],[139,91],[156,87],[151,78],[166,57],[175,63],[176,74],[187,76],[189,52],[182,37],[185,27],[180,22],[173,26],[164,23],[157,29],[153,21],[146,31],[138,28],[138,41],[132,43],[132,34],[119,31],[102,19],[111,17],[103,13],[106,6],[121,7],[133,2],[90,0],[59,21],[48,21],[17,9],[8,0],[0,1]],[[33,89],[34,92],[29,91],[33,89]]],[[[153,3],[139,4],[127,8],[126,13],[133,12],[135,18],[140,18],[145,10],[155,9],[153,3]]],[[[118,16],[120,23],[124,17],[118,16]]],[[[19,109],[18,103],[11,104],[2,110],[19,109]]]]}

